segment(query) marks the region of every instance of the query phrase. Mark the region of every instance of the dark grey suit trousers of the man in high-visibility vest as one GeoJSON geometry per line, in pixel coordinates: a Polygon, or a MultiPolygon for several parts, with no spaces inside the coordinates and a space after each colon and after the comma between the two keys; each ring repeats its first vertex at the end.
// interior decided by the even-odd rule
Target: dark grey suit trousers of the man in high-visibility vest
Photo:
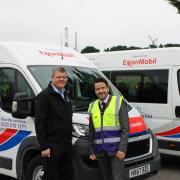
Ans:
{"type": "Polygon", "coordinates": [[[102,180],[124,180],[124,161],[105,153],[97,158],[102,180]]]}

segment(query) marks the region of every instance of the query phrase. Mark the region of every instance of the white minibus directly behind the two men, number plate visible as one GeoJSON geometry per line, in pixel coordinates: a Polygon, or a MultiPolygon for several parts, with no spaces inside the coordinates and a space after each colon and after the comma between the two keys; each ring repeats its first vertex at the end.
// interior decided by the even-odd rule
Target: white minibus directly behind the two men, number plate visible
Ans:
{"type": "MultiPolygon", "coordinates": [[[[67,93],[73,103],[73,180],[100,180],[97,162],[89,159],[89,103],[96,99],[94,79],[106,78],[93,63],[70,48],[25,42],[0,42],[0,174],[40,180],[42,158],[34,128],[35,96],[46,88],[52,68],[68,72],[67,93]]],[[[119,91],[108,81],[110,93],[119,91]]],[[[128,104],[130,122],[125,178],[158,172],[157,140],[140,113],[128,104]]]]}

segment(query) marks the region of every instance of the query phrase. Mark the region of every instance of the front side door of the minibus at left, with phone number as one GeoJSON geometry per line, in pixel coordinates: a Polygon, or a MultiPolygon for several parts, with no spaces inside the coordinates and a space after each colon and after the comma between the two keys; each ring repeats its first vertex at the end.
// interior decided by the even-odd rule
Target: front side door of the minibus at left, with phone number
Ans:
{"type": "Polygon", "coordinates": [[[32,118],[12,117],[12,102],[17,92],[34,95],[23,74],[12,65],[0,67],[0,171],[16,177],[16,154],[21,141],[34,130],[32,118]],[[5,163],[6,162],[6,163],[5,163]]]}

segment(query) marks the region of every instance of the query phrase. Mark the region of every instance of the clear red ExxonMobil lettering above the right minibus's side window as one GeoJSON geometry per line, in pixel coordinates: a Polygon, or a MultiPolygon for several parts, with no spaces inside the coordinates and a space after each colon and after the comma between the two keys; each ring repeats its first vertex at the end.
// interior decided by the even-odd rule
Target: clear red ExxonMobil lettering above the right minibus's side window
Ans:
{"type": "Polygon", "coordinates": [[[132,67],[135,65],[156,64],[156,58],[124,59],[123,66],[132,67]]]}

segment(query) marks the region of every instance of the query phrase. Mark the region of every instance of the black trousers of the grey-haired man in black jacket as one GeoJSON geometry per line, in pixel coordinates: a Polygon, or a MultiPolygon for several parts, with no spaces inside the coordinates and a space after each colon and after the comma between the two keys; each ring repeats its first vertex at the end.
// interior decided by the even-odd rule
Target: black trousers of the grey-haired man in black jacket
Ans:
{"type": "Polygon", "coordinates": [[[50,158],[44,158],[43,180],[72,180],[72,144],[50,144],[50,158]]]}

